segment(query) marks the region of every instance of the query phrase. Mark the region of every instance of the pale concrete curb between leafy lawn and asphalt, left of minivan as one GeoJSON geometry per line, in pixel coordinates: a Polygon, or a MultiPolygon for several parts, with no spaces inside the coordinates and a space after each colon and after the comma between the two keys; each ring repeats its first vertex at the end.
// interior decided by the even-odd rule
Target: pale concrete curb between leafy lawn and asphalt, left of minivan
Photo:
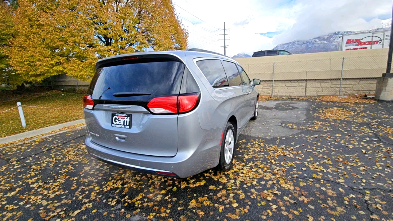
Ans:
{"type": "Polygon", "coordinates": [[[44,127],[44,128],[41,128],[41,129],[38,129],[38,130],[34,130],[34,131],[28,131],[28,132],[24,132],[24,133],[20,133],[20,134],[6,136],[6,137],[3,137],[3,138],[0,138],[0,144],[7,144],[9,142],[22,140],[24,138],[28,138],[28,137],[37,136],[37,135],[40,135],[40,134],[49,133],[51,131],[56,131],[56,130],[62,128],[62,127],[68,127],[68,126],[76,125],[76,124],[79,124],[79,123],[84,123],[84,119],[75,120],[75,121],[67,122],[67,123],[61,123],[61,124],[53,125],[53,126],[50,126],[50,127],[44,127]]]}

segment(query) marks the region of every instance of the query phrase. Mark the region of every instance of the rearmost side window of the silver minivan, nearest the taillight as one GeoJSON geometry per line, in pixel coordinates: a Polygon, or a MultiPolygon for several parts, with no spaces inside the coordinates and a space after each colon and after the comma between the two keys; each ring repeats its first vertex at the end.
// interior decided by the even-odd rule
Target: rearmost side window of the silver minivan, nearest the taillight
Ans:
{"type": "Polygon", "coordinates": [[[210,85],[214,88],[229,86],[224,68],[220,60],[209,59],[197,61],[196,65],[200,68],[210,85]]]}

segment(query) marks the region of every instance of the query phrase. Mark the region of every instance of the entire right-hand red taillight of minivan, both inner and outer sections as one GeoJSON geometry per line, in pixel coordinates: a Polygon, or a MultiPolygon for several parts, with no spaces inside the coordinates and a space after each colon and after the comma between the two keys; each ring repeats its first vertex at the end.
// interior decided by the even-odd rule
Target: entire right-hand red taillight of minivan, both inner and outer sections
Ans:
{"type": "Polygon", "coordinates": [[[176,114],[193,110],[199,101],[199,94],[153,98],[147,104],[155,114],[176,114]]]}

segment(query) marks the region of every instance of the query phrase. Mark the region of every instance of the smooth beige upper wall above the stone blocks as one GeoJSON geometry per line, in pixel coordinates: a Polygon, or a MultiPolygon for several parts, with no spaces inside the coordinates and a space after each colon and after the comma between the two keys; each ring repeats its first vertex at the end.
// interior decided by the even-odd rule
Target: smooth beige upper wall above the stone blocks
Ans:
{"type": "Polygon", "coordinates": [[[374,78],[386,71],[387,48],[235,59],[250,78],[263,81],[374,78]]]}

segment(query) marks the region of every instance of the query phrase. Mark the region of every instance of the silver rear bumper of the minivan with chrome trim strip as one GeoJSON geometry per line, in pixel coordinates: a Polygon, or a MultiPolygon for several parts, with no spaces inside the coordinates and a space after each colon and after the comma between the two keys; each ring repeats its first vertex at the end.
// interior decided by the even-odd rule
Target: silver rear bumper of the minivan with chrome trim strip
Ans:
{"type": "Polygon", "coordinates": [[[179,147],[174,157],[156,157],[118,151],[95,144],[90,140],[90,136],[86,137],[85,144],[92,157],[110,164],[156,175],[162,175],[156,171],[174,173],[180,178],[185,178],[213,168],[219,162],[222,128],[200,130],[197,134],[202,135],[200,139],[196,139],[200,142],[194,143],[194,147],[191,148],[179,147]]]}

